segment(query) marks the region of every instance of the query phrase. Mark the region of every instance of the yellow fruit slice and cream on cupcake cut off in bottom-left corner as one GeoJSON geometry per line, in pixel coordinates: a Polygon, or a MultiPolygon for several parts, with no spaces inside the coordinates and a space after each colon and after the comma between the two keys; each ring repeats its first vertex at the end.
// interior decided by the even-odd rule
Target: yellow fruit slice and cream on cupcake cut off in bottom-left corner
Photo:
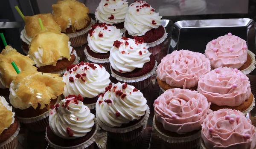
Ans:
{"type": "Polygon", "coordinates": [[[15,113],[12,112],[12,106],[9,106],[6,99],[0,96],[0,134],[4,129],[9,128],[14,122],[15,113]]]}

